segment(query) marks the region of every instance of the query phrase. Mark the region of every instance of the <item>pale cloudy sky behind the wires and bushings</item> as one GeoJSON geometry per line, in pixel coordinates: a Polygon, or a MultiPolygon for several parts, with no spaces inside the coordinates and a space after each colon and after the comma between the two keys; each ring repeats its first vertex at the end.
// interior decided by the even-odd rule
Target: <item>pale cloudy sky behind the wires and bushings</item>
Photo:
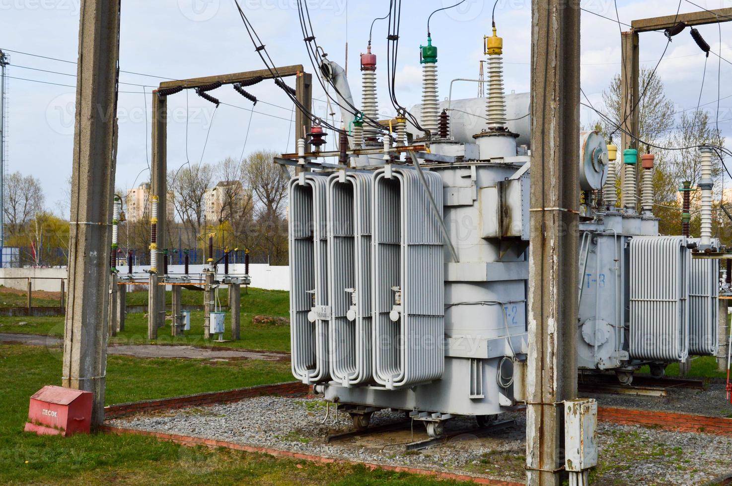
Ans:
{"type": "MultiPolygon", "coordinates": [[[[10,172],[33,174],[42,181],[46,205],[56,210],[64,198],[72,164],[75,65],[80,0],[0,0],[0,49],[10,56],[7,87],[7,165],[10,172]],[[16,51],[16,52],[13,52],[16,51]],[[34,56],[31,56],[34,55],[34,56]],[[45,57],[40,57],[45,56],[45,57]],[[59,74],[59,73],[65,73],[59,74]],[[40,83],[42,81],[43,83],[40,83]],[[55,84],[48,84],[55,83],[55,84]],[[66,85],[66,86],[57,86],[66,85]]],[[[693,0],[706,9],[732,7],[730,0],[693,0]]],[[[250,21],[280,66],[303,64],[313,72],[302,42],[296,0],[240,0],[250,21]]],[[[427,15],[455,0],[403,0],[397,99],[411,106],[419,102],[421,70],[419,45],[427,37],[427,15]]],[[[371,20],[386,15],[387,0],[307,0],[318,43],[329,58],[346,64],[351,90],[359,102],[359,53],[365,51],[371,20]]],[[[613,0],[582,0],[582,87],[596,107],[602,90],[620,67],[620,29],[613,0]],[[590,13],[590,12],[594,12],[590,13]]],[[[617,0],[621,22],[673,15],[674,0],[617,0]]],[[[430,30],[438,46],[439,90],[447,97],[449,80],[477,76],[482,58],[482,36],[490,33],[493,0],[466,0],[454,10],[433,16],[430,30]]],[[[687,0],[681,12],[701,10],[687,0]]],[[[498,0],[496,23],[504,38],[507,91],[529,91],[531,1],[498,0]]],[[[627,29],[627,27],[623,27],[627,29]]],[[[712,50],[732,61],[732,23],[701,26],[712,50]]],[[[373,29],[373,50],[379,62],[380,110],[393,114],[386,94],[386,21],[373,29]]],[[[665,48],[659,33],[641,34],[641,62],[653,67],[665,48]]],[[[149,179],[150,102],[152,88],[165,78],[180,79],[262,69],[264,66],[247,36],[233,0],[123,0],[119,96],[119,158],[117,187],[130,188],[149,179]],[[134,72],[138,74],[131,74],[134,72]]],[[[687,32],[673,39],[657,72],[677,110],[696,106],[704,56],[687,32]]],[[[701,103],[717,112],[717,57],[710,56],[701,103]],[[706,105],[705,105],[706,104],[706,105]]],[[[732,135],[732,64],[721,62],[720,129],[732,135]],[[727,97],[731,96],[731,97],[727,97]]],[[[318,87],[319,88],[319,87],[318,87]]],[[[315,89],[317,100],[326,96],[315,89]]],[[[214,96],[237,107],[213,105],[195,93],[171,96],[168,105],[168,167],[238,158],[258,149],[293,150],[292,104],[271,81],[250,88],[261,101],[254,107],[231,87],[214,96]],[[250,123],[251,117],[251,123],[250,123]],[[249,136],[246,137],[247,127],[249,136]],[[186,135],[187,132],[187,135],[186,135]],[[204,143],[208,135],[205,151],[204,143]],[[246,138],[246,145],[244,144],[246,138]]],[[[474,84],[455,83],[456,98],[472,97],[474,84]]],[[[326,104],[315,101],[315,113],[325,115],[326,104]]],[[[583,110],[583,123],[594,117],[583,110]]],[[[729,145],[729,144],[728,144],[729,145]]]]}

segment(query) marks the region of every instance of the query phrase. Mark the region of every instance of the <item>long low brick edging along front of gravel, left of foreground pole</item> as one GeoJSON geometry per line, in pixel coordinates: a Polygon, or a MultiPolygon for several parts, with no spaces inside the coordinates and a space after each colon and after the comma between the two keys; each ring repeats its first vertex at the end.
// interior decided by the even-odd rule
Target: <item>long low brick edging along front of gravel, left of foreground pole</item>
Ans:
{"type": "MultiPolygon", "coordinates": [[[[302,384],[301,384],[302,385],[302,384]]],[[[207,446],[207,447],[226,447],[227,449],[233,449],[243,452],[254,452],[257,454],[266,454],[266,455],[272,455],[274,457],[285,457],[287,459],[297,459],[297,460],[308,460],[315,463],[323,463],[323,464],[348,464],[351,466],[365,466],[372,471],[374,469],[383,469],[384,471],[394,471],[394,472],[400,472],[400,473],[408,473],[408,474],[419,474],[421,476],[433,476],[437,477],[439,479],[452,479],[454,481],[463,481],[463,482],[474,482],[479,485],[489,485],[489,486],[521,486],[523,483],[519,482],[509,482],[509,481],[501,481],[498,479],[489,479],[485,477],[479,477],[479,476],[468,476],[467,474],[456,474],[456,473],[449,473],[445,471],[433,471],[431,469],[422,469],[422,468],[411,468],[406,466],[389,466],[387,464],[377,464],[377,463],[367,463],[367,462],[361,462],[357,460],[348,460],[348,459],[335,459],[334,457],[325,457],[325,456],[319,456],[319,455],[312,455],[312,454],[302,454],[300,452],[291,452],[286,451],[282,449],[272,449],[269,447],[258,447],[258,446],[246,446],[244,444],[235,444],[234,442],[227,442],[227,441],[217,441],[211,438],[201,438],[201,437],[193,437],[193,436],[181,436],[178,434],[172,434],[172,433],[162,433],[162,432],[150,432],[148,430],[138,430],[138,429],[132,429],[132,428],[124,428],[124,427],[113,427],[111,425],[102,425],[97,430],[100,430],[103,433],[116,433],[116,434],[128,434],[133,436],[146,436],[146,437],[154,437],[159,438],[165,441],[171,441],[175,442],[176,444],[182,444],[184,446],[193,447],[193,446],[207,446]]]]}

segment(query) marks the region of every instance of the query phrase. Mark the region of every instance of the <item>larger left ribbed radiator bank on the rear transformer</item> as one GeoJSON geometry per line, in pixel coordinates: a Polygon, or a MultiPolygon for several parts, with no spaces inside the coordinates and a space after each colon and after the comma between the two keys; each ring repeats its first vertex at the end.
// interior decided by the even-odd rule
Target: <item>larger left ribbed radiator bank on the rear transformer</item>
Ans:
{"type": "Polygon", "coordinates": [[[630,357],[686,360],[691,263],[687,239],[638,236],[629,248],[630,357]]]}

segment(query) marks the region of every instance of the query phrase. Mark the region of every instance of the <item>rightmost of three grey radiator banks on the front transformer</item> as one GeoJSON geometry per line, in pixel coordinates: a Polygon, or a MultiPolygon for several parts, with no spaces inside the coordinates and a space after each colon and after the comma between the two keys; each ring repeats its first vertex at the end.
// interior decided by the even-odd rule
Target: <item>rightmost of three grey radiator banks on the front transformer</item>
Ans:
{"type": "MultiPolygon", "coordinates": [[[[442,181],[425,172],[442,208],[442,181]]],[[[441,214],[419,174],[386,167],[373,174],[374,379],[387,389],[438,379],[444,371],[441,214]]]]}

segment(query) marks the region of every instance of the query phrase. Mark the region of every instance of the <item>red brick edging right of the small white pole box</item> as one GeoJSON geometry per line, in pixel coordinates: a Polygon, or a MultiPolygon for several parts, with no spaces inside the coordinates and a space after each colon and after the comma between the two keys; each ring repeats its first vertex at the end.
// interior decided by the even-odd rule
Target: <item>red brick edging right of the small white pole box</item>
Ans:
{"type": "Polygon", "coordinates": [[[679,414],[673,411],[597,407],[597,419],[620,425],[657,426],[679,432],[732,435],[732,419],[708,415],[679,414]]]}

